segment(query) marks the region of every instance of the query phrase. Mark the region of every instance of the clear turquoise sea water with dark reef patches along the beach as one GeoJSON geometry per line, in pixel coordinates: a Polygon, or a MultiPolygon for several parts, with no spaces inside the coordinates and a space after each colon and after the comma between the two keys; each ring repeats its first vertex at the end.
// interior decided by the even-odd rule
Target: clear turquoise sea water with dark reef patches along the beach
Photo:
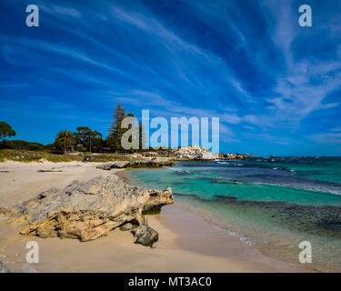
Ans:
{"type": "Polygon", "coordinates": [[[313,264],[341,271],[341,158],[276,157],[181,162],[130,170],[140,186],[172,187],[176,200],[249,245],[298,262],[299,242],[313,246],[313,264]]]}

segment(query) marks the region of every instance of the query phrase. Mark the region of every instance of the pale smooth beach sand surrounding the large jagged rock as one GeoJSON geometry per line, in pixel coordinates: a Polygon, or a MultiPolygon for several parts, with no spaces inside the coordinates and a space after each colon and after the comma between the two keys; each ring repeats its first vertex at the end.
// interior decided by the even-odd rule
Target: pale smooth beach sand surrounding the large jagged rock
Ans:
{"type": "MultiPolygon", "coordinates": [[[[11,206],[55,186],[78,179],[115,175],[95,163],[0,163],[0,206],[11,206]],[[62,172],[44,172],[53,170],[62,172]],[[9,173],[7,173],[9,172],[9,173]]],[[[265,256],[236,236],[211,226],[178,202],[147,216],[159,233],[155,247],[134,244],[129,232],[81,243],[75,239],[20,236],[15,225],[0,217],[0,261],[14,272],[26,265],[29,241],[39,244],[38,272],[307,272],[306,268],[265,256]]]]}

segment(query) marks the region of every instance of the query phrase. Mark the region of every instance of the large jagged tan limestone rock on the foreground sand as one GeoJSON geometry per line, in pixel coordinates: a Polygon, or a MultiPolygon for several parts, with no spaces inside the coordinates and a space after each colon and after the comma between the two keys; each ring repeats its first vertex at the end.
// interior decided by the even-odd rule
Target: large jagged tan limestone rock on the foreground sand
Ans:
{"type": "MultiPolygon", "coordinates": [[[[148,190],[128,185],[117,176],[99,176],[88,182],[74,181],[63,190],[52,188],[21,205],[3,208],[2,213],[7,223],[20,224],[22,235],[89,241],[125,223],[145,226],[146,211],[172,203],[171,188],[148,190]]],[[[155,242],[155,236],[149,242],[143,237],[145,246],[155,242]]]]}

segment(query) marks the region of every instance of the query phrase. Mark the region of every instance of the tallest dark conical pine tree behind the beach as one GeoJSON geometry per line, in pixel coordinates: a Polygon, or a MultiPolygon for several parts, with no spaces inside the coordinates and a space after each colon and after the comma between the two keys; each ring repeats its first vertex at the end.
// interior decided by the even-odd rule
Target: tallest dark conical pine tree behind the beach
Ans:
{"type": "Polygon", "coordinates": [[[116,153],[122,150],[121,137],[125,133],[124,128],[121,127],[122,121],[125,118],[125,108],[118,103],[113,114],[113,123],[109,127],[107,135],[107,143],[113,148],[116,153]]]}

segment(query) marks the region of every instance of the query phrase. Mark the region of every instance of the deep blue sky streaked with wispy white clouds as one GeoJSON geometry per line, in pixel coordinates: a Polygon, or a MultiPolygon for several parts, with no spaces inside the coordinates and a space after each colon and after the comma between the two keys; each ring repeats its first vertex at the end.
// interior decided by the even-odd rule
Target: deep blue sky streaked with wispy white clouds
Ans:
{"type": "Polygon", "coordinates": [[[341,156],[341,1],[2,0],[0,13],[0,121],[15,139],[105,136],[119,102],[137,118],[219,117],[220,152],[341,156]]]}

